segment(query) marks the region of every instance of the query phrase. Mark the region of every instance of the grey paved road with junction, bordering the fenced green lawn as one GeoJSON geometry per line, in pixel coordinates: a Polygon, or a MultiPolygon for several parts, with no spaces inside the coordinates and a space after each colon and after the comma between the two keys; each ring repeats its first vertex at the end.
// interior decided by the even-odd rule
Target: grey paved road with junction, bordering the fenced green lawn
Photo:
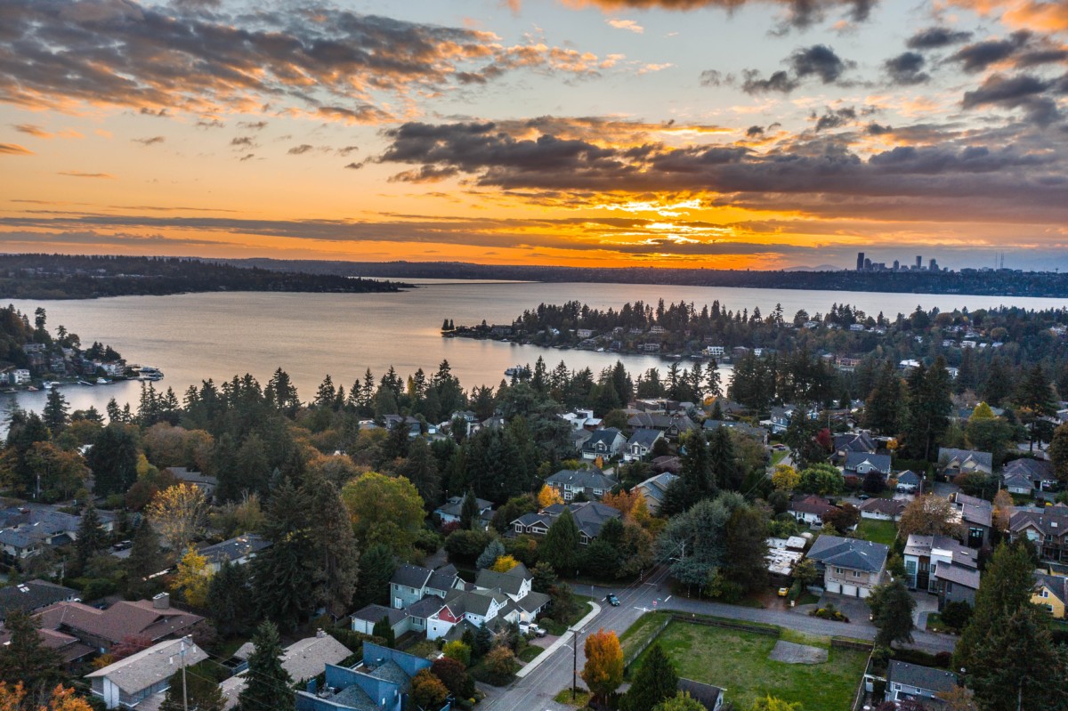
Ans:
{"type": "MultiPolygon", "coordinates": [[[[649,581],[642,584],[634,584],[624,589],[614,589],[619,597],[619,606],[612,607],[608,604],[601,605],[601,613],[585,628],[579,631],[579,649],[577,655],[577,667],[579,673],[585,664],[585,655],[582,653],[582,645],[585,633],[596,632],[598,629],[612,630],[616,634],[622,634],[624,630],[633,625],[639,617],[646,612],[656,610],[668,610],[678,613],[692,613],[700,615],[716,615],[732,619],[749,620],[753,622],[767,622],[780,627],[798,630],[806,634],[818,635],[842,635],[854,637],[857,639],[875,638],[875,627],[867,619],[857,620],[849,625],[832,622],[818,617],[808,617],[797,612],[781,610],[761,610],[754,607],[739,607],[720,602],[706,600],[690,600],[687,598],[676,598],[670,594],[666,584],[668,569],[659,568],[649,576],[649,581]],[[654,605],[654,603],[656,603],[654,605]]],[[[585,595],[590,591],[587,586],[576,586],[576,592],[585,595]]],[[[593,595],[603,599],[610,591],[609,588],[594,587],[593,595]]],[[[942,634],[930,632],[913,632],[915,637],[914,647],[928,652],[952,651],[955,638],[942,634]]],[[[505,690],[488,690],[489,697],[481,705],[485,711],[562,711],[568,707],[561,706],[552,700],[556,693],[571,684],[572,664],[576,663],[574,647],[568,643],[560,647],[551,657],[540,663],[538,668],[530,675],[513,683],[505,690]]],[[[582,679],[579,678],[582,685],[582,679]]]]}

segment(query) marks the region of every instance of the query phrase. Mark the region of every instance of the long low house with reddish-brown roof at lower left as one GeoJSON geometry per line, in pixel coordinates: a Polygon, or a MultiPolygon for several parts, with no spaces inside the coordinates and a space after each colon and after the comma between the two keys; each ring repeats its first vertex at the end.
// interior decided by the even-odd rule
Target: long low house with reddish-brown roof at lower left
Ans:
{"type": "Polygon", "coordinates": [[[34,615],[41,633],[47,631],[74,637],[106,653],[126,637],[160,642],[188,634],[204,618],[171,606],[171,596],[160,592],[152,600],[120,600],[107,610],[80,602],[58,602],[34,615]]]}

